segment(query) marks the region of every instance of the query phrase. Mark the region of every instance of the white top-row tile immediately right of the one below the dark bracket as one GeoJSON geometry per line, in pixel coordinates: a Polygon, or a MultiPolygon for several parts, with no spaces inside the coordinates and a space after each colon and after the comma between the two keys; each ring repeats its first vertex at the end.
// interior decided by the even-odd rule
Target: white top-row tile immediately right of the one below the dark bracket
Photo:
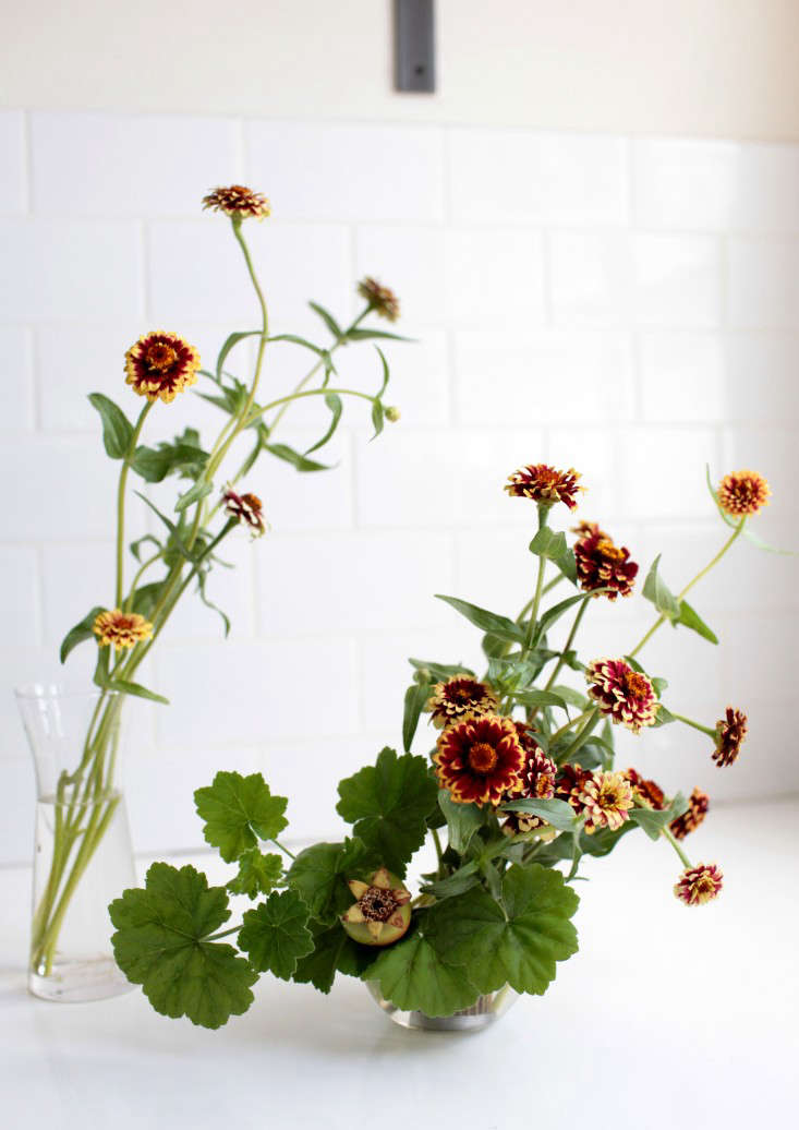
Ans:
{"type": "Polygon", "coordinates": [[[458,223],[621,224],[625,142],[527,130],[449,131],[458,223]]]}

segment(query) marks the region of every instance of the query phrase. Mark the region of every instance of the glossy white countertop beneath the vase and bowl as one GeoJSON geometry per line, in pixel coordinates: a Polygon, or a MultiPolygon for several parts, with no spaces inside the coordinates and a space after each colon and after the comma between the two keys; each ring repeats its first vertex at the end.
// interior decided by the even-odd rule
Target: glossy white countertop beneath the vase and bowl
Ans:
{"type": "Polygon", "coordinates": [[[34,1000],[29,875],[0,871],[0,1127],[796,1124],[799,801],[718,809],[686,847],[721,864],[715,904],[677,903],[677,858],[631,835],[579,885],[581,951],[480,1034],[401,1029],[348,977],[323,997],[265,976],[218,1032],[158,1016],[138,989],[34,1000]]]}

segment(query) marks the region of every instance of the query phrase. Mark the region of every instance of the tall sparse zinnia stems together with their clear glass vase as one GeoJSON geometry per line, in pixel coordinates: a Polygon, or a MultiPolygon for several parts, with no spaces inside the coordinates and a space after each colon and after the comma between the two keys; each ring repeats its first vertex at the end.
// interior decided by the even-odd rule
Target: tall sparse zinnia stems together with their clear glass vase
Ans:
{"type": "MultiPolygon", "coordinates": [[[[207,594],[209,574],[225,564],[219,554],[234,531],[244,530],[257,538],[266,529],[261,498],[239,481],[253,472],[262,454],[301,472],[325,470],[315,454],[335,433],[346,399],[369,406],[376,435],[384,420],[395,421],[400,416],[384,399],[389,368],[379,348],[379,342],[397,334],[375,328],[370,321],[372,315],[397,320],[395,295],[375,279],[365,278],[358,284],[361,308],[349,325],[341,325],[324,306],[310,303],[324,327],[326,340],[322,345],[293,333],[272,333],[266,298],[245,238],[245,224],[270,216],[269,200],[260,192],[232,185],[210,192],[203,207],[230,221],[253,286],[258,325],[230,333],[212,368],[202,367],[197,350],[178,333],[153,330],[141,337],[124,355],[125,383],[143,402],[135,419],[129,419],[108,397],[99,392],[89,395],[102,419],[106,454],[118,466],[115,568],[108,599],[98,599],[68,632],[61,661],[78,645],[90,642],[96,650],[94,688],[89,694],[81,689],[77,696],[41,685],[18,693],[39,793],[29,985],[47,999],[79,1000],[118,991],[105,914],[113,892],[102,885],[97,888],[99,920],[88,903],[93,885],[96,887],[104,873],[107,881],[108,868],[97,855],[100,844],[116,840],[124,857],[128,840],[126,867],[132,871],[117,788],[120,712],[131,695],[167,702],[138,681],[138,671],[187,591],[193,589],[220,614],[227,635],[228,618],[207,594]],[[247,340],[255,345],[255,359],[249,376],[243,380],[230,372],[230,365],[247,340]],[[360,342],[376,344],[376,392],[344,386],[339,379],[337,350],[360,342]],[[287,346],[309,356],[309,367],[305,373],[306,366],[300,368],[293,389],[265,393],[262,370],[267,351],[287,346]],[[175,401],[200,377],[200,395],[221,411],[222,424],[213,442],[205,445],[199,431],[181,419],[174,440],[147,445],[143,436],[151,415],[178,411],[175,401]],[[289,407],[307,398],[319,398],[330,419],[317,442],[299,451],[279,442],[278,431],[289,407]],[[134,484],[139,489],[132,489],[134,484]],[[167,501],[161,484],[173,486],[167,501]],[[126,546],[131,493],[157,525],[156,532],[126,546]],[[86,931],[81,936],[80,923],[93,919],[98,924],[88,937],[86,931]],[[106,976],[107,970],[111,974],[106,976]]],[[[118,888],[118,881],[113,889],[118,888]]]]}

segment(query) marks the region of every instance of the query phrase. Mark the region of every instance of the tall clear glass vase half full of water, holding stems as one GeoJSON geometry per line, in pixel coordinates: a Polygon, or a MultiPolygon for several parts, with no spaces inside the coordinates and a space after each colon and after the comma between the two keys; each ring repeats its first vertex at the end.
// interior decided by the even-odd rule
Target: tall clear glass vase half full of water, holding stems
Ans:
{"type": "Polygon", "coordinates": [[[114,997],[108,903],[135,886],[118,788],[122,698],[33,684],[16,692],[36,771],[28,988],[53,1001],[114,997]]]}

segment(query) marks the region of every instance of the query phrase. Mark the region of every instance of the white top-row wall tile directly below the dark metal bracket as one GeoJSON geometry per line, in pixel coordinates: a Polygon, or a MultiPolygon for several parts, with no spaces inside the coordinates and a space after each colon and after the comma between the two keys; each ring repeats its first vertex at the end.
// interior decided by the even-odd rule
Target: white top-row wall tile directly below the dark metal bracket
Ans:
{"type": "Polygon", "coordinates": [[[246,131],[247,176],[280,219],[441,219],[439,129],[249,122],[246,131]]]}

